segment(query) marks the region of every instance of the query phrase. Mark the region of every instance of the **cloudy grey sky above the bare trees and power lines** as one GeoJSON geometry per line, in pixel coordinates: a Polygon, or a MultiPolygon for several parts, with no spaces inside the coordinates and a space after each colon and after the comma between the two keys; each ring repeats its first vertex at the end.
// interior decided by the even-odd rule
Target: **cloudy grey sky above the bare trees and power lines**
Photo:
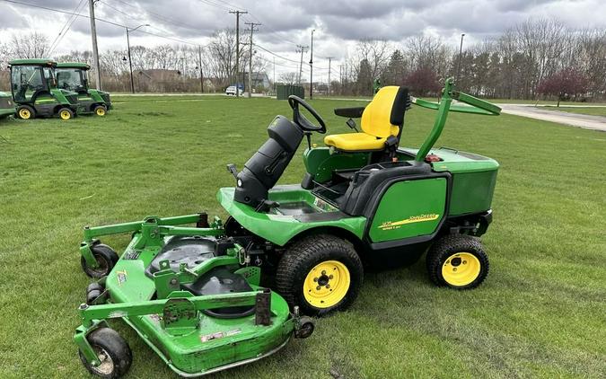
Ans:
{"type": "MultiPolygon", "coordinates": [[[[88,0],[15,0],[88,15],[88,0]]],[[[328,66],[347,57],[356,40],[388,40],[394,47],[416,34],[439,36],[458,46],[494,37],[529,18],[557,18],[573,29],[606,27],[606,0],[99,0],[95,3],[99,48],[126,49],[125,29],[101,20],[140,29],[131,33],[131,46],[188,42],[204,45],[213,31],[235,27],[230,10],[248,11],[243,22],[259,22],[255,43],[277,54],[276,70],[296,71],[296,45],[309,46],[313,33],[314,66],[328,66]],[[153,33],[145,34],[145,32],[153,33]],[[282,59],[280,57],[285,57],[282,59]]],[[[72,49],[91,49],[90,21],[77,17],[59,37],[70,18],[57,13],[0,0],[0,40],[12,34],[41,31],[50,41],[59,38],[54,56],[72,49]]],[[[272,60],[266,51],[259,51],[272,60]]],[[[309,61],[309,52],[303,57],[309,61]]],[[[321,71],[321,70],[319,70],[321,71]]],[[[334,70],[333,70],[334,72],[334,70]]],[[[321,75],[321,72],[319,72],[321,75]]]]}

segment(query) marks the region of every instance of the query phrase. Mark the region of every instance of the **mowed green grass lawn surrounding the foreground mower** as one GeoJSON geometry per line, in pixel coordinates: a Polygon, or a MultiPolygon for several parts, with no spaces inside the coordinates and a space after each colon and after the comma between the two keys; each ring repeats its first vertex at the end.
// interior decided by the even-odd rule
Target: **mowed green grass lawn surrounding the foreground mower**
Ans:
{"type": "MultiPolygon", "coordinates": [[[[104,118],[0,123],[0,377],[86,377],[72,335],[90,283],[83,225],[202,210],[267,138],[285,101],[116,98],[104,118]]],[[[346,132],[313,101],[329,132],[346,132]]],[[[417,146],[435,113],[413,108],[401,145],[417,146]]],[[[320,136],[314,141],[321,143],[320,136]]],[[[606,376],[606,134],[503,115],[452,114],[437,145],[501,163],[491,260],[472,291],[433,286],[424,260],[366,273],[356,304],[318,320],[310,339],[218,378],[606,376]]],[[[281,182],[299,182],[300,149],[281,182]]],[[[417,201],[417,199],[402,199],[417,201]]],[[[127,236],[105,239],[123,249],[127,236]]],[[[119,321],[130,377],[171,377],[119,321]]]]}

